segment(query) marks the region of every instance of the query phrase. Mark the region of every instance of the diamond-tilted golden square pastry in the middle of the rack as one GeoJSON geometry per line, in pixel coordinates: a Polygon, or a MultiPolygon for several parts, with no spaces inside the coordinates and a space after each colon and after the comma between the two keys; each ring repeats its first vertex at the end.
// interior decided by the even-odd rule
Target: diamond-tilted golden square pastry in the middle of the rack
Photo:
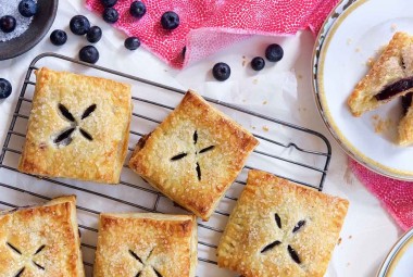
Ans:
{"type": "Polygon", "coordinates": [[[138,142],[129,167],[208,221],[258,140],[192,91],[138,142]]]}

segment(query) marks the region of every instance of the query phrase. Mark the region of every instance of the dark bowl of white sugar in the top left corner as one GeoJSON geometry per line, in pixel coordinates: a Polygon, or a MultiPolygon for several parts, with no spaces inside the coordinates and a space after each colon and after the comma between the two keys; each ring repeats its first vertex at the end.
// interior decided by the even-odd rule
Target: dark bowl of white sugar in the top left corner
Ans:
{"type": "Polygon", "coordinates": [[[15,58],[34,48],[53,24],[59,0],[28,2],[35,3],[34,15],[30,14],[33,7],[27,5],[27,0],[0,0],[0,61],[15,58]]]}

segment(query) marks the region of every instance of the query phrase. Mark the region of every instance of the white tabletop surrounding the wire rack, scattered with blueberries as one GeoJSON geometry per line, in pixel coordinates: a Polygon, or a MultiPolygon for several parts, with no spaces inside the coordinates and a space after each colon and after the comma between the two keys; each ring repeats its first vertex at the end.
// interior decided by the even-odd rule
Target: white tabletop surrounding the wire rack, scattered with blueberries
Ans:
{"type": "MultiPolygon", "coordinates": [[[[105,24],[99,16],[88,12],[83,4],[84,1],[80,0],[60,1],[57,20],[45,39],[22,56],[0,61],[0,77],[9,79],[13,86],[13,95],[0,102],[1,146],[29,62],[39,53],[48,51],[77,58],[78,50],[82,46],[87,45],[87,40],[70,33],[68,21],[75,14],[85,14],[92,24],[103,29],[103,38],[97,45],[101,54],[99,65],[179,88],[192,88],[204,96],[248,105],[249,109],[260,113],[298,123],[324,134],[333,146],[333,160],[324,191],[350,201],[349,213],[340,235],[341,243],[336,247],[326,276],[375,276],[381,261],[402,231],[381,209],[378,200],[370,194],[349,172],[346,154],[329,136],[316,111],[311,87],[311,54],[314,45],[314,37],[311,33],[302,32],[288,38],[256,36],[188,68],[176,71],[142,48],[134,52],[126,50],[123,47],[125,36],[105,24]],[[55,28],[63,28],[68,34],[67,43],[60,48],[51,45],[48,39],[50,33],[55,28]],[[280,63],[276,66],[267,66],[256,75],[248,68],[248,65],[247,67],[242,66],[242,56],[250,60],[262,53],[266,45],[271,42],[279,42],[284,46],[285,58],[280,63]],[[114,54],[116,59],[113,59],[114,54]],[[210,73],[212,65],[221,61],[230,64],[233,70],[230,79],[225,83],[214,81],[210,73]],[[287,76],[290,81],[287,84],[284,81],[285,78],[279,76],[287,76]],[[267,88],[291,86],[295,84],[295,76],[297,77],[297,92],[292,88],[292,96],[284,93],[283,98],[288,102],[287,108],[274,109],[277,92],[268,91],[267,88]],[[240,87],[248,81],[253,81],[254,78],[265,81],[255,84],[256,90],[252,96],[237,96],[240,87]],[[248,101],[242,101],[246,98],[248,101]],[[267,100],[267,104],[262,104],[263,99],[267,100]]],[[[284,87],[284,89],[289,90],[288,87],[284,87]]],[[[0,180],[2,176],[0,176],[0,180]]]]}

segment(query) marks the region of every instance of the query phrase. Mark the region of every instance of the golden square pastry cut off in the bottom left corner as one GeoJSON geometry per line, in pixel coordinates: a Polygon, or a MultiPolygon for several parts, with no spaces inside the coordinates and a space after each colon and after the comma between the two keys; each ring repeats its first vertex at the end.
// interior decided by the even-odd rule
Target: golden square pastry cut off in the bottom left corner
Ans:
{"type": "Polygon", "coordinates": [[[0,213],[0,276],[85,276],[75,197],[0,213]]]}

